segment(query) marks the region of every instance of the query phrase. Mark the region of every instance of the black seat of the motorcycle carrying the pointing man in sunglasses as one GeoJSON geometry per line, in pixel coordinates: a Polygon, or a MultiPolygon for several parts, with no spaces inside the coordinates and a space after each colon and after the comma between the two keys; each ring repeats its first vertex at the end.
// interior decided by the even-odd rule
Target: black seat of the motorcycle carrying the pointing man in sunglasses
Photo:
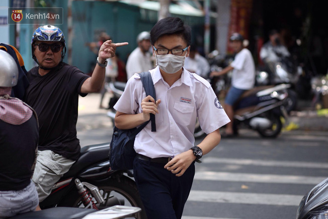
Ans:
{"type": "Polygon", "coordinates": [[[81,156],[77,160],[70,170],[64,174],[63,178],[69,178],[77,175],[79,172],[94,165],[97,161],[103,162],[108,160],[109,143],[89,145],[81,148],[81,156]]]}

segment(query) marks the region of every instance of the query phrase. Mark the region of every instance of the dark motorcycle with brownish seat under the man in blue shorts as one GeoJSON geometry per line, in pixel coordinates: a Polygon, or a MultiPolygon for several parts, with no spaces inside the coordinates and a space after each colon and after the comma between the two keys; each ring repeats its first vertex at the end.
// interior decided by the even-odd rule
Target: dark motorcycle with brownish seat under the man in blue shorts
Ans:
{"type": "MultiPolygon", "coordinates": [[[[286,106],[289,86],[262,86],[245,92],[234,106],[234,134],[238,134],[239,128],[245,127],[256,130],[262,137],[277,137],[283,126],[280,116],[285,119],[288,117],[286,106]]],[[[194,137],[204,135],[197,121],[194,137]]]]}

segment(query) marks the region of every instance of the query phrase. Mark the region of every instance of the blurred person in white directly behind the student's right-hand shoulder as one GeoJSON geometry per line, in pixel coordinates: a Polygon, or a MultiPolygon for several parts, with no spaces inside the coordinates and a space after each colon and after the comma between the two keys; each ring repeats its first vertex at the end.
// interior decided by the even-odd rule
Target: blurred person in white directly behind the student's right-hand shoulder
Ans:
{"type": "Polygon", "coordinates": [[[184,68],[203,78],[208,78],[208,74],[210,73],[210,65],[207,59],[199,54],[195,45],[190,45],[190,53],[184,61],[184,68]]]}

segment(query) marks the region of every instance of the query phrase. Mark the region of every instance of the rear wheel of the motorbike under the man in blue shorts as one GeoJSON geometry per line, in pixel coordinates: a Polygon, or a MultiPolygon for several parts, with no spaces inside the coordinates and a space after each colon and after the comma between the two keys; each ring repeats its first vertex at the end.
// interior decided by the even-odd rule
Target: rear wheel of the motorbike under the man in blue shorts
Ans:
{"type": "Polygon", "coordinates": [[[272,113],[266,113],[263,115],[263,117],[268,118],[270,121],[272,121],[271,126],[266,129],[257,129],[257,132],[262,136],[266,138],[275,138],[278,136],[278,134],[281,131],[282,128],[282,122],[280,120],[280,116],[272,113]]]}

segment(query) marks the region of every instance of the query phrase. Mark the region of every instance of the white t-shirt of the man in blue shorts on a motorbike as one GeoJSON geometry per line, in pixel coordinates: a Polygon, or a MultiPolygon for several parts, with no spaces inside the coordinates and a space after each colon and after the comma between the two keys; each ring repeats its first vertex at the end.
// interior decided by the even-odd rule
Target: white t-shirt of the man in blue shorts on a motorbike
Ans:
{"type": "Polygon", "coordinates": [[[231,84],[235,88],[249,90],[255,84],[255,65],[248,49],[242,49],[230,64],[234,70],[231,84]]]}

